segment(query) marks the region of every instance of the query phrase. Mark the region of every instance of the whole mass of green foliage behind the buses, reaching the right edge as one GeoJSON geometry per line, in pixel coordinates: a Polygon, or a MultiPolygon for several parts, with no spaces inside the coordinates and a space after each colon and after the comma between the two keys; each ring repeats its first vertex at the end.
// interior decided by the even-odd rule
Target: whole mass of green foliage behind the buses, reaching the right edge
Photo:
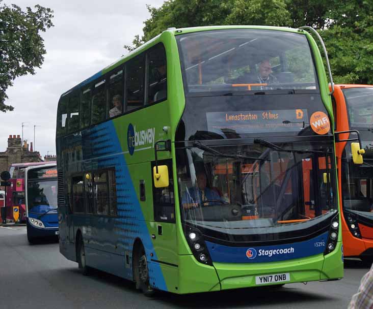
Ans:
{"type": "Polygon", "coordinates": [[[318,30],[338,83],[373,84],[373,2],[370,0],[168,0],[147,6],[143,35],[132,50],[168,27],[273,25],[318,30]]]}

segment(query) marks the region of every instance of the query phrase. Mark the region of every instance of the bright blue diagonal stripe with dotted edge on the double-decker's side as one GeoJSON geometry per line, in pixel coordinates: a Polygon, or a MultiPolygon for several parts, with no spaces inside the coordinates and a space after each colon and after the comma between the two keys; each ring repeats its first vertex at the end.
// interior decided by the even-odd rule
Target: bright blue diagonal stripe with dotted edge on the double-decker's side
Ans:
{"type": "MultiPolygon", "coordinates": [[[[92,129],[90,140],[92,158],[98,158],[97,168],[115,167],[119,218],[116,219],[114,233],[117,234],[124,252],[129,254],[132,262],[132,247],[139,237],[144,244],[147,260],[157,260],[113,121],[101,123],[92,129]],[[150,253],[154,256],[150,257],[150,253]]],[[[124,259],[122,267],[125,267],[124,259]]],[[[157,263],[148,263],[148,268],[152,287],[167,291],[161,267],[157,263]]],[[[132,267],[126,268],[126,278],[132,280],[132,277],[132,267]]]]}

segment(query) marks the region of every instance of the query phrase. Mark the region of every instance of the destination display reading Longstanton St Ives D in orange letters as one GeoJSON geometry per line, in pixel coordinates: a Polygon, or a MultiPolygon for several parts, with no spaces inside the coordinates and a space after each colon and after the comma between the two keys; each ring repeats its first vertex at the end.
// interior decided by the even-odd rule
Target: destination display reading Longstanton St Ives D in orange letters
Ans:
{"type": "Polygon", "coordinates": [[[298,132],[308,125],[307,109],[209,112],[206,118],[208,131],[217,133],[298,132]]]}

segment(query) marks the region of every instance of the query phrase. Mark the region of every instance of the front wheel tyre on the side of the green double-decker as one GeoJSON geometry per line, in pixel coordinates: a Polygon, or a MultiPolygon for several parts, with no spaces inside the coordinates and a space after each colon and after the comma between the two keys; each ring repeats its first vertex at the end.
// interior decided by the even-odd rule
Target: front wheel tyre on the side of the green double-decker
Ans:
{"type": "Polygon", "coordinates": [[[154,296],[155,291],[150,288],[149,285],[148,262],[143,246],[139,248],[138,254],[136,256],[136,263],[134,266],[136,287],[140,289],[145,296],[154,296]]]}

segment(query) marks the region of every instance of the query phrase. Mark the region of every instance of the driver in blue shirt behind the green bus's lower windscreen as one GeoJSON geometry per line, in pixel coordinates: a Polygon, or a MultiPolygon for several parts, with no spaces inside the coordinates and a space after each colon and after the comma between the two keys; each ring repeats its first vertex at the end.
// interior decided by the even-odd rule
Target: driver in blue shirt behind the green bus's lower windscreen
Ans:
{"type": "Polygon", "coordinates": [[[218,205],[223,204],[224,200],[220,195],[213,189],[207,187],[207,177],[203,171],[197,173],[197,186],[187,189],[182,196],[182,204],[184,208],[198,207],[199,205],[214,205],[220,200],[222,203],[217,202],[218,205]]]}

